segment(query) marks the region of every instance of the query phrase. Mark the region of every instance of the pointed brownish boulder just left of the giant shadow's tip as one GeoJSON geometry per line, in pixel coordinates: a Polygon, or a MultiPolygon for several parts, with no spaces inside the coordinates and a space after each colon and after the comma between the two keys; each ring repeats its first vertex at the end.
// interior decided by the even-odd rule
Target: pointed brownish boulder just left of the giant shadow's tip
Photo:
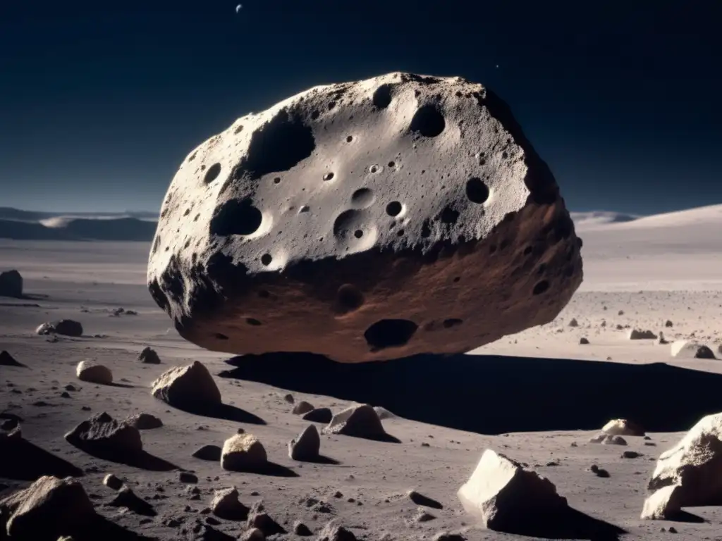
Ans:
{"type": "Polygon", "coordinates": [[[206,367],[193,361],[160,374],[152,384],[152,395],[178,408],[214,406],[221,403],[221,392],[206,367]]]}

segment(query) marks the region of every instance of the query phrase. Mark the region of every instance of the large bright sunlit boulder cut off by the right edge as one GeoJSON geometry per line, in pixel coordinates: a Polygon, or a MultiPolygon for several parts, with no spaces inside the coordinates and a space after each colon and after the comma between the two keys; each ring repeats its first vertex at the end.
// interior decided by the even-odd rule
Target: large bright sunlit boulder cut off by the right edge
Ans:
{"type": "Polygon", "coordinates": [[[722,495],[722,413],[703,417],[663,452],[647,485],[643,519],[671,519],[683,507],[718,506],[722,495]]]}

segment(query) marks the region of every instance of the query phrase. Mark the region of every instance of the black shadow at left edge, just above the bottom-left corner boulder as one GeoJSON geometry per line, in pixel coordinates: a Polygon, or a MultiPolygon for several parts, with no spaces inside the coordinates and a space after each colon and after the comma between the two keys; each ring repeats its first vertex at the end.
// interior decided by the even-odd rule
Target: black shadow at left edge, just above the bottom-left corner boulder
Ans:
{"type": "Polygon", "coordinates": [[[26,439],[6,439],[0,444],[0,478],[35,481],[43,475],[82,477],[83,471],[26,439]]]}

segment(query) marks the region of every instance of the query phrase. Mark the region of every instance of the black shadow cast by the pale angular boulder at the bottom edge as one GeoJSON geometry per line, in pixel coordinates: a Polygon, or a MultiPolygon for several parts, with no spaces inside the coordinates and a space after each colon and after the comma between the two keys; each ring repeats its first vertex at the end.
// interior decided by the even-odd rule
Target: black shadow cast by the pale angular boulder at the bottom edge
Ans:
{"type": "Polygon", "coordinates": [[[616,541],[620,535],[627,533],[614,524],[595,519],[571,507],[543,516],[525,516],[503,532],[545,539],[590,541],[616,541]]]}

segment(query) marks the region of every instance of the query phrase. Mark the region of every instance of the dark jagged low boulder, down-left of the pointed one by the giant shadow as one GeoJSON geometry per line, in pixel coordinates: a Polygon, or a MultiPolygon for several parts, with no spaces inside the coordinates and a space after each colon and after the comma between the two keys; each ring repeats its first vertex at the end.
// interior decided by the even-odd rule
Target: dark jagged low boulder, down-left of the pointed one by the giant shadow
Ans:
{"type": "Polygon", "coordinates": [[[65,435],[65,439],[75,447],[99,456],[134,455],[143,450],[138,429],[118,423],[105,412],[79,423],[65,435]]]}

